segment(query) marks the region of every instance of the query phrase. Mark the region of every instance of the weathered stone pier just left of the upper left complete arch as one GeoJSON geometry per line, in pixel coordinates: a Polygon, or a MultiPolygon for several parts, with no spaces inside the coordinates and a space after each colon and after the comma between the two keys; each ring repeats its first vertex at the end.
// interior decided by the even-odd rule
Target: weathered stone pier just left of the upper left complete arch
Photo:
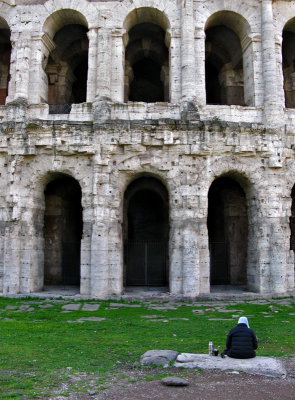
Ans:
{"type": "Polygon", "coordinates": [[[28,31],[11,33],[11,85],[8,89],[7,102],[24,99],[28,100],[31,34],[28,31]]]}

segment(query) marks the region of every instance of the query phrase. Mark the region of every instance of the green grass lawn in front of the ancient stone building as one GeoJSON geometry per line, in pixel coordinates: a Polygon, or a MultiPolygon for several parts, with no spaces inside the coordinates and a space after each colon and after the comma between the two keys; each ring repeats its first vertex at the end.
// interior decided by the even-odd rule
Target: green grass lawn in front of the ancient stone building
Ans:
{"type": "Polygon", "coordinates": [[[0,298],[1,399],[46,397],[57,389],[60,395],[99,390],[110,375],[122,377],[124,369],[152,349],[207,353],[209,339],[222,349],[239,316],[249,317],[259,340],[258,355],[295,354],[293,298],[263,304],[117,302],[139,305],[136,308],[118,307],[115,301],[80,300],[79,310],[67,311],[63,307],[69,303],[75,302],[0,298]],[[84,304],[99,308],[83,311],[84,304]],[[40,308],[44,305],[48,308],[40,308]],[[93,317],[105,319],[77,321],[93,317]]]}

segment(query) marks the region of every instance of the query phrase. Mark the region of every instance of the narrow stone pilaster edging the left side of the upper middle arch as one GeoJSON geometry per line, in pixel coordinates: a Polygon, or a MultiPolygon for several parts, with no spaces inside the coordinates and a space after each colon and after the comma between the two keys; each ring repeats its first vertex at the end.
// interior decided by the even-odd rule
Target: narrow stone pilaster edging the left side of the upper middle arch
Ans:
{"type": "Polygon", "coordinates": [[[117,28],[112,31],[111,99],[119,102],[124,101],[124,34],[124,29],[117,28]]]}

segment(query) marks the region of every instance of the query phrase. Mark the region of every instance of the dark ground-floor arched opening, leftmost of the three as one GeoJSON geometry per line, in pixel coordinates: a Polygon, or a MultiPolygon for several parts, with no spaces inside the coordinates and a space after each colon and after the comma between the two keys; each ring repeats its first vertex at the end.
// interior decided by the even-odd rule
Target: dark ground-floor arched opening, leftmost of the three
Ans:
{"type": "Polygon", "coordinates": [[[44,285],[80,285],[81,187],[60,175],[44,194],[44,285]]]}

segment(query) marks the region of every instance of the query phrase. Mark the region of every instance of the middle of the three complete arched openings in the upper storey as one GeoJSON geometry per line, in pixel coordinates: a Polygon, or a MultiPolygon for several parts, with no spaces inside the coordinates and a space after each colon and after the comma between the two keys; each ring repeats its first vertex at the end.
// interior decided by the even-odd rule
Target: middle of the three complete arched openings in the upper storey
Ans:
{"type": "Polygon", "coordinates": [[[125,22],[125,101],[169,101],[167,22],[160,11],[141,8],[125,22]]]}

